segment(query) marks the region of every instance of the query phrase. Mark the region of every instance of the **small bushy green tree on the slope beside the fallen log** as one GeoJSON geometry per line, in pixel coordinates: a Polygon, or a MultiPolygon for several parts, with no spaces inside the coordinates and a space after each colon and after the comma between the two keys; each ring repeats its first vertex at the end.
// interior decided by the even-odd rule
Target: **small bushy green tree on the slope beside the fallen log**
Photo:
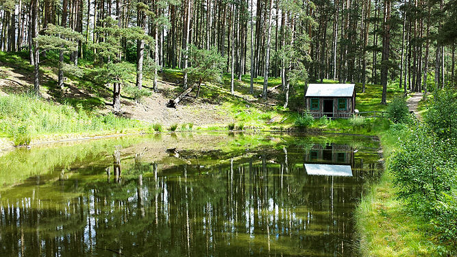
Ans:
{"type": "Polygon", "coordinates": [[[198,84],[197,97],[199,97],[200,86],[203,82],[219,82],[222,71],[225,67],[225,58],[217,52],[217,49],[198,49],[190,45],[186,53],[191,64],[186,69],[188,78],[198,84]]]}

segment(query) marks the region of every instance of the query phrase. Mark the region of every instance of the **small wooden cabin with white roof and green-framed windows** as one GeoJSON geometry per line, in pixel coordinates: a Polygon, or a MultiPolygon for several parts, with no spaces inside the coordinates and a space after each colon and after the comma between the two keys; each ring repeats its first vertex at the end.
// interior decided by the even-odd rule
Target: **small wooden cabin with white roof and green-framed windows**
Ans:
{"type": "Polygon", "coordinates": [[[309,84],[306,109],[314,118],[349,118],[356,108],[355,84],[309,84]]]}

